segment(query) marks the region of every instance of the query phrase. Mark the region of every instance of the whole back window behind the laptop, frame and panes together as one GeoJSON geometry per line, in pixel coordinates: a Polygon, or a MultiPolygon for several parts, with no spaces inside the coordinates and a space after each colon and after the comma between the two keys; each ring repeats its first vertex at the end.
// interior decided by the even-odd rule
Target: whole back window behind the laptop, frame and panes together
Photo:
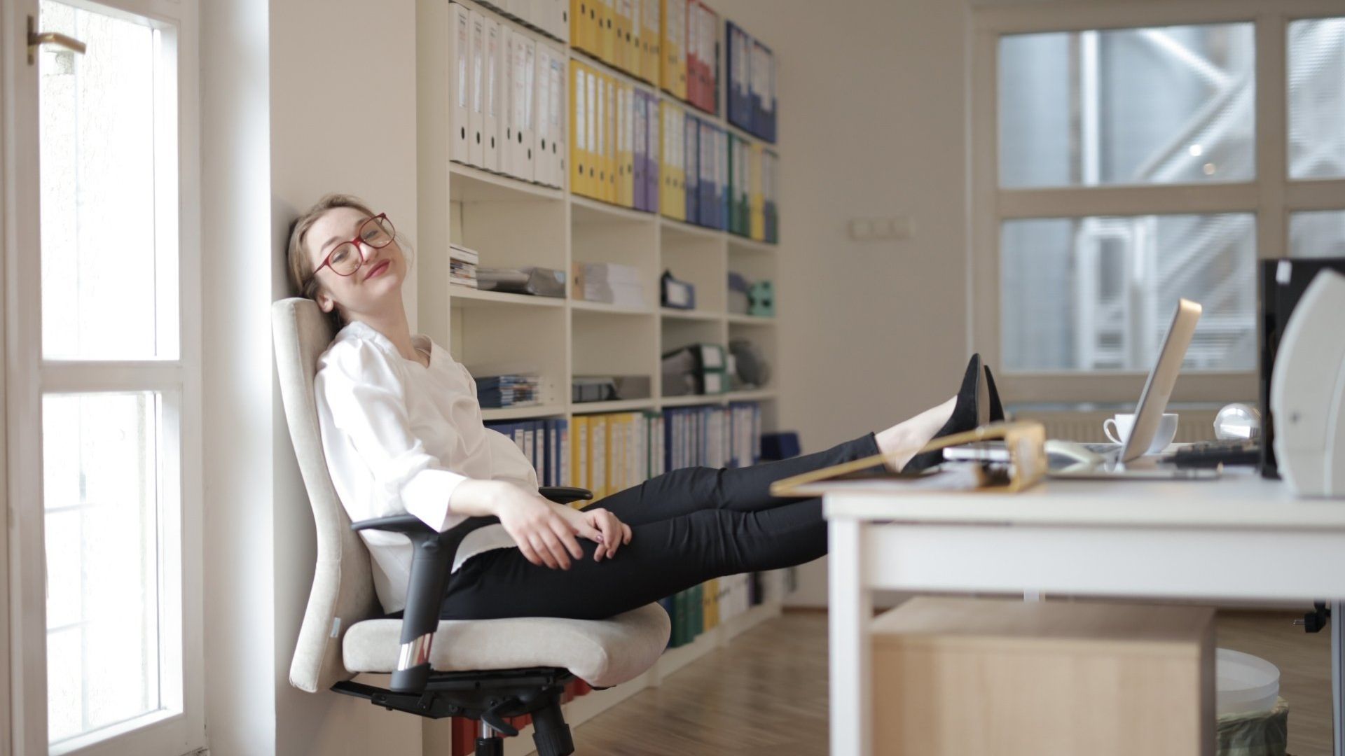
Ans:
{"type": "Polygon", "coordinates": [[[1345,254],[1330,11],[976,11],[972,326],[1006,398],[1134,401],[1178,297],[1178,393],[1254,394],[1256,260],[1345,254]]]}

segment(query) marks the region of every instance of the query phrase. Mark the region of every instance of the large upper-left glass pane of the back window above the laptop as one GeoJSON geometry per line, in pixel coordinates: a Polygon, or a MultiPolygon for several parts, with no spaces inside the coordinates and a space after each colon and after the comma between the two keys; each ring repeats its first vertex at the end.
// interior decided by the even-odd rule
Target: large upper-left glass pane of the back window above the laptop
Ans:
{"type": "Polygon", "coordinates": [[[1251,23],[999,40],[1006,188],[1255,178],[1251,23]]]}

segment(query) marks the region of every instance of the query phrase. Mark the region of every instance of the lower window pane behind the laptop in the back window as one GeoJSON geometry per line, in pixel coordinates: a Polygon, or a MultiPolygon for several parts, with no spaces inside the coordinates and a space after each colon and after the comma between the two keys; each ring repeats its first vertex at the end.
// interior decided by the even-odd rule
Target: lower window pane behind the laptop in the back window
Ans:
{"type": "Polygon", "coordinates": [[[1256,361],[1251,214],[1034,218],[1001,226],[1005,367],[1153,367],[1180,297],[1204,313],[1185,366],[1256,361]]]}

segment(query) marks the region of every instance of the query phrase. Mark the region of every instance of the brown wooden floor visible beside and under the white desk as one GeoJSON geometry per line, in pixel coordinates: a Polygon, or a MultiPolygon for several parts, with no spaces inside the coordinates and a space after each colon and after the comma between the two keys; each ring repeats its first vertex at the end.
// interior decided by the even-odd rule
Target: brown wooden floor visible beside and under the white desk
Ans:
{"type": "MultiPolygon", "coordinates": [[[[1219,644],[1280,670],[1289,753],[1330,753],[1330,638],[1290,612],[1221,612],[1219,644]]],[[[827,617],[787,611],[574,728],[577,753],[827,753],[827,617]]]]}

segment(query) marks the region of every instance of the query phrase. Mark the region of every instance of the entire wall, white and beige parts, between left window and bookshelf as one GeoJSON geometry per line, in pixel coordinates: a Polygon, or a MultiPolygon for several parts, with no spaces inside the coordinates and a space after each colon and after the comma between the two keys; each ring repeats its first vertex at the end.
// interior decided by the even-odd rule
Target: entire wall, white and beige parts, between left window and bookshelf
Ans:
{"type": "Polygon", "coordinates": [[[316,545],[270,342],[289,223],[321,194],[414,241],[414,1],[202,5],[211,752],[418,755],[418,721],[289,686],[316,545]]]}

